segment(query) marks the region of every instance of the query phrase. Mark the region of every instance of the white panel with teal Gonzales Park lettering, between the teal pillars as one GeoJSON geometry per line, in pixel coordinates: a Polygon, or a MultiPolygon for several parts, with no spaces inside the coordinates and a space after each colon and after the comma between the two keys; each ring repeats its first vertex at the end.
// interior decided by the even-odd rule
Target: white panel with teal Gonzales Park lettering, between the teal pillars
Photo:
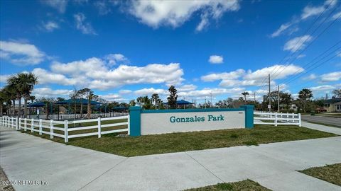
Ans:
{"type": "Polygon", "coordinates": [[[141,134],[245,128],[245,111],[141,113],[141,134]]]}

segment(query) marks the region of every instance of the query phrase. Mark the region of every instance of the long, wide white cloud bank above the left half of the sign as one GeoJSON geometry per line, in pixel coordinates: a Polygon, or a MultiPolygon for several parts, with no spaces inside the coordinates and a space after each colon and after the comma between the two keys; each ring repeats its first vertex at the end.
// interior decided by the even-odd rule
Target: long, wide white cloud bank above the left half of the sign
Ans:
{"type": "Polygon", "coordinates": [[[55,74],[70,76],[67,79],[81,80],[89,88],[108,89],[128,84],[166,83],[167,86],[178,85],[184,79],[180,64],[148,64],[146,66],[127,66],[121,64],[116,68],[103,59],[92,57],[69,63],[54,62],[51,69],[55,74]],[[80,76],[85,79],[80,79],[80,76]]]}

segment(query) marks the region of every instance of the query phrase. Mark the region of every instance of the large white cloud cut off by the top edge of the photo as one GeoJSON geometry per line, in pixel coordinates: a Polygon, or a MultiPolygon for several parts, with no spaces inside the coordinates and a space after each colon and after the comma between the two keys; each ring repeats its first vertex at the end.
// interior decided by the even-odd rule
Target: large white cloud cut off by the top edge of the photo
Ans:
{"type": "Polygon", "coordinates": [[[238,11],[239,1],[131,1],[129,13],[139,19],[141,23],[158,28],[170,25],[176,28],[188,21],[193,13],[201,11],[207,16],[197,26],[202,30],[207,26],[207,18],[218,19],[226,11],[238,11]]]}

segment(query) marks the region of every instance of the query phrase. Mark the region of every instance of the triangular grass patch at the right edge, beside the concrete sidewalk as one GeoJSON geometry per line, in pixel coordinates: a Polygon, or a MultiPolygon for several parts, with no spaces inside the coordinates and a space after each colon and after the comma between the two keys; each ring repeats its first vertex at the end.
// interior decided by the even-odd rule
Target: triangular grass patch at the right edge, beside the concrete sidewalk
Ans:
{"type": "Polygon", "coordinates": [[[308,168],[299,172],[341,186],[341,163],[308,168]]]}

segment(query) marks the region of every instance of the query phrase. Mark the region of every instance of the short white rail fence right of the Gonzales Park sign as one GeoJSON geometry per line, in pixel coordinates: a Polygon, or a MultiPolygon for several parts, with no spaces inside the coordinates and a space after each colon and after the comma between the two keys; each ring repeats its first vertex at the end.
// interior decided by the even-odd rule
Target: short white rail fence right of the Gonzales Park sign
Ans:
{"type": "Polygon", "coordinates": [[[301,127],[301,113],[254,111],[254,124],[275,126],[298,125],[301,127]]]}

